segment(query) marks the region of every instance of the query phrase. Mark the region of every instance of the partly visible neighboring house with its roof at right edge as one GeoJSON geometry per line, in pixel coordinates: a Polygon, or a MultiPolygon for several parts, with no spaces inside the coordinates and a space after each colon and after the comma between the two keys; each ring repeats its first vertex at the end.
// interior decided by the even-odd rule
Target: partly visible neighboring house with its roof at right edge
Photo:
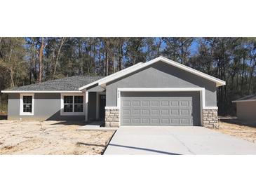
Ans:
{"type": "Polygon", "coordinates": [[[256,94],[232,101],[236,103],[236,116],[241,120],[256,121],[256,94]]]}

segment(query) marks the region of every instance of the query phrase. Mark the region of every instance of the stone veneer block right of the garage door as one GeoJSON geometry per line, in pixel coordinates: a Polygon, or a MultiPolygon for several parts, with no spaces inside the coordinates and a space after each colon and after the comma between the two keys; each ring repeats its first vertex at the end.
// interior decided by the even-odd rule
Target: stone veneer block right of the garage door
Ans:
{"type": "Polygon", "coordinates": [[[217,109],[203,109],[203,127],[219,128],[217,109]]]}

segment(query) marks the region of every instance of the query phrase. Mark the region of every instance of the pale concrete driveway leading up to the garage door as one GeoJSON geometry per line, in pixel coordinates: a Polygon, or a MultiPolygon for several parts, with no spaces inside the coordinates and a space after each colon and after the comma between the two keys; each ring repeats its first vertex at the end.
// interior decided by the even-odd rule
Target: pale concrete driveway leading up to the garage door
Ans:
{"type": "Polygon", "coordinates": [[[121,127],[104,154],[256,154],[256,144],[203,127],[121,127]]]}

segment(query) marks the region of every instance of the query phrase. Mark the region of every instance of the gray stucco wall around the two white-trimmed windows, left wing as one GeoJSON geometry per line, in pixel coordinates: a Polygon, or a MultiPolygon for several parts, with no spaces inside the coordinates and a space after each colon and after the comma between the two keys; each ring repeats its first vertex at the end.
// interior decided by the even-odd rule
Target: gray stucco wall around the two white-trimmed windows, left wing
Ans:
{"type": "Polygon", "coordinates": [[[10,120],[85,120],[85,116],[60,116],[60,93],[35,93],[34,116],[20,116],[20,94],[8,94],[10,120]]]}

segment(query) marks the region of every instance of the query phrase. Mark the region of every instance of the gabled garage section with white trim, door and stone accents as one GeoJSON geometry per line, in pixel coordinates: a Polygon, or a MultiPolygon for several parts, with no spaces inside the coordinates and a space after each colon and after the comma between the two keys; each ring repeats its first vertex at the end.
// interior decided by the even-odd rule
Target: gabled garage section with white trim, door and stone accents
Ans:
{"type": "Polygon", "coordinates": [[[165,57],[99,81],[106,89],[105,125],[217,127],[217,87],[225,82],[165,57]]]}

